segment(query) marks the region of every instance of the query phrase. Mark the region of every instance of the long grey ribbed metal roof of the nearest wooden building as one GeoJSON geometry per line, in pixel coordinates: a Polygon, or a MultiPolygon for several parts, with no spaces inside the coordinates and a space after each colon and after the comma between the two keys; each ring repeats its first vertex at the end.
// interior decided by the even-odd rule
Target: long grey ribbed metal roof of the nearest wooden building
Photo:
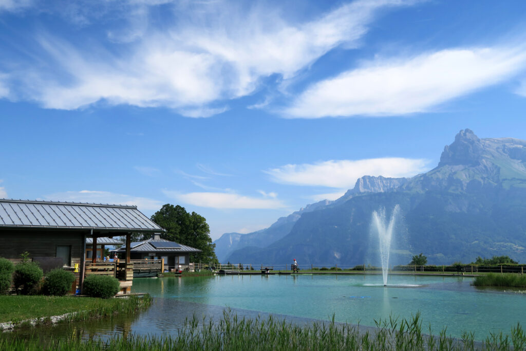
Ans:
{"type": "Polygon", "coordinates": [[[0,228],[162,230],[137,206],[0,199],[0,228]]]}

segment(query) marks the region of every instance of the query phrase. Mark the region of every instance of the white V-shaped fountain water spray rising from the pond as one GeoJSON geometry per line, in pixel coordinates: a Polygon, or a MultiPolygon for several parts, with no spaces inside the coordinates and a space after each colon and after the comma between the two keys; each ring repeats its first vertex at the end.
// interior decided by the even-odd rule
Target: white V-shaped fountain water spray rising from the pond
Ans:
{"type": "Polygon", "coordinates": [[[372,226],[378,233],[378,243],[380,245],[380,260],[382,262],[383,286],[387,286],[387,273],[389,269],[389,252],[391,250],[391,238],[396,218],[400,212],[400,206],[393,207],[391,218],[387,223],[386,209],[380,207],[378,211],[372,212],[372,226]]]}

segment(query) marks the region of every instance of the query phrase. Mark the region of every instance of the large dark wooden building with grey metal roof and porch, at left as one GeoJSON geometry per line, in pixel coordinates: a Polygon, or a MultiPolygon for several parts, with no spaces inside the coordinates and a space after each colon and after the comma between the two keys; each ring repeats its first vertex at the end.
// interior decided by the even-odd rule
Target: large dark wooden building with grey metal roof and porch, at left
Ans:
{"type": "Polygon", "coordinates": [[[89,274],[113,275],[127,293],[133,279],[130,263],[131,233],[162,230],[136,206],[47,202],[0,199],[0,257],[18,262],[20,255],[38,262],[60,261],[75,272],[82,289],[89,274]],[[124,259],[119,263],[97,263],[96,255],[87,262],[86,239],[125,236],[124,259]]]}

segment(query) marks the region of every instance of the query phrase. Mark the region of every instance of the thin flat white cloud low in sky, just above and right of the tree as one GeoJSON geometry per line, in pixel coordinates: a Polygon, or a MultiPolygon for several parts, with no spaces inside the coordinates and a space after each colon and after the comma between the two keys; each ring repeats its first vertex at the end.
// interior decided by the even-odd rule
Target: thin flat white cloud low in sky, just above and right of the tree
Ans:
{"type": "Polygon", "coordinates": [[[209,192],[181,194],[170,190],[164,190],[164,194],[180,202],[200,207],[219,209],[276,209],[286,207],[280,200],[274,198],[256,198],[232,193],[209,192]]]}

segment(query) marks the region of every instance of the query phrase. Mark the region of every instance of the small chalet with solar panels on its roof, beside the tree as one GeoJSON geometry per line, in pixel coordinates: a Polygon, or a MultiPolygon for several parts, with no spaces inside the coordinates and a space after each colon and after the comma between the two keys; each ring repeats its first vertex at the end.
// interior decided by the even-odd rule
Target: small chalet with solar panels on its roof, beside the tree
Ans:
{"type": "MultiPolygon", "coordinates": [[[[191,270],[190,254],[201,252],[201,250],[170,242],[169,240],[161,239],[158,233],[154,237],[130,245],[130,257],[133,260],[157,260],[162,259],[165,270],[176,269],[181,266],[181,270],[191,270]]],[[[113,252],[123,253],[125,248],[120,247],[113,252]]]]}

